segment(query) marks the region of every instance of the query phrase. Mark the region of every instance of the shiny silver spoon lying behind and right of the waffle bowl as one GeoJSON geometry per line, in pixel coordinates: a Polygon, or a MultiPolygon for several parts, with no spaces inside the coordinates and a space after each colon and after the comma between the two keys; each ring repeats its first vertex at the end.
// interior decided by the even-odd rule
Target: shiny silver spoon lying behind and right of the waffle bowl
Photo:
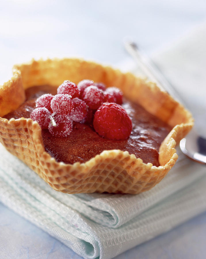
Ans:
{"type": "MultiPolygon", "coordinates": [[[[147,77],[150,78],[150,80],[156,82],[159,88],[166,91],[178,102],[186,106],[180,94],[163,76],[157,66],[144,53],[142,53],[142,51],[139,50],[136,43],[133,41],[125,40],[124,45],[127,52],[138,63],[140,69],[145,73],[145,75],[147,75],[147,77]]],[[[186,136],[186,138],[183,138],[180,141],[180,149],[190,159],[206,164],[206,139],[199,136],[194,127],[186,136]]]]}

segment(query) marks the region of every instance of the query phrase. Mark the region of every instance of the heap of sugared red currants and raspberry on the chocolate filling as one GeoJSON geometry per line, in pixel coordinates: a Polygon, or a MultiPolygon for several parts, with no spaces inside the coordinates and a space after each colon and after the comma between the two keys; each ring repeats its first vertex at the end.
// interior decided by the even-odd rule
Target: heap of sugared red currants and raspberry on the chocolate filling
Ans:
{"type": "Polygon", "coordinates": [[[103,83],[94,83],[91,80],[82,80],[76,85],[66,80],[58,87],[55,96],[43,94],[37,98],[37,108],[33,110],[30,118],[37,121],[42,129],[48,129],[53,136],[68,136],[72,132],[73,121],[75,121],[90,124],[93,122],[94,129],[100,136],[126,139],[131,133],[131,120],[119,105],[122,104],[122,97],[123,93],[117,87],[106,89],[103,83]],[[104,115],[104,113],[108,114],[104,115]],[[113,133],[108,133],[106,118],[109,121],[115,121],[113,124],[108,124],[113,133]],[[118,124],[118,121],[121,123],[118,124]],[[129,126],[125,126],[128,122],[129,126]],[[103,125],[106,129],[103,129],[103,125]],[[125,127],[128,130],[125,130],[125,127]]]}

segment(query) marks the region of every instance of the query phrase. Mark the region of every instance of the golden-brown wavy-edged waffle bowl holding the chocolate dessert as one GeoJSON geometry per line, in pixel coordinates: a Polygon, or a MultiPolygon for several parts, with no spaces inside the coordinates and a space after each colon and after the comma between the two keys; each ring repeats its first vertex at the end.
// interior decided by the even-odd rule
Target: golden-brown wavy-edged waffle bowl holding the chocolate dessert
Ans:
{"type": "Polygon", "coordinates": [[[154,83],[110,67],[79,59],[39,60],[16,65],[13,77],[0,88],[0,141],[52,188],[64,193],[129,193],[148,191],[175,164],[175,146],[193,126],[191,114],[154,83]],[[7,119],[25,100],[24,89],[33,85],[78,83],[92,78],[107,87],[115,85],[124,96],[142,105],[173,129],[159,148],[159,167],[121,150],[105,150],[85,163],[57,162],[44,149],[39,124],[31,119],[7,119]],[[9,96],[9,98],[8,98],[9,96]]]}

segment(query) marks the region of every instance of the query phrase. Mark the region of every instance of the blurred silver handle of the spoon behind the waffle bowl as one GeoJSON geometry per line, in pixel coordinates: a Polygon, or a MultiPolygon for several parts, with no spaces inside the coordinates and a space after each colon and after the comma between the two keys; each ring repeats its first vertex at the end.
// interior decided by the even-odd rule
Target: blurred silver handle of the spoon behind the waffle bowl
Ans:
{"type": "Polygon", "coordinates": [[[127,52],[133,57],[133,59],[137,62],[140,69],[144,72],[144,74],[149,77],[151,81],[157,83],[158,87],[161,90],[166,91],[168,94],[173,96],[178,102],[182,104],[185,103],[180,97],[180,94],[176,91],[176,89],[172,86],[171,83],[164,77],[164,75],[160,72],[157,66],[148,58],[136,45],[136,43],[132,41],[125,41],[125,49],[127,52]]]}

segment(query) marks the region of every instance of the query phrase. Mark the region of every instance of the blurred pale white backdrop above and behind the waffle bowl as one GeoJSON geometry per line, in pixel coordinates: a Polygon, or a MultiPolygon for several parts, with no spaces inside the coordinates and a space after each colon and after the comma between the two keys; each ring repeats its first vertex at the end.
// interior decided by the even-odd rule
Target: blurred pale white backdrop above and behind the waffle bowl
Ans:
{"type": "Polygon", "coordinates": [[[0,1],[0,83],[14,64],[32,58],[82,57],[118,65],[128,59],[125,36],[152,54],[205,18],[205,0],[0,1]]]}

